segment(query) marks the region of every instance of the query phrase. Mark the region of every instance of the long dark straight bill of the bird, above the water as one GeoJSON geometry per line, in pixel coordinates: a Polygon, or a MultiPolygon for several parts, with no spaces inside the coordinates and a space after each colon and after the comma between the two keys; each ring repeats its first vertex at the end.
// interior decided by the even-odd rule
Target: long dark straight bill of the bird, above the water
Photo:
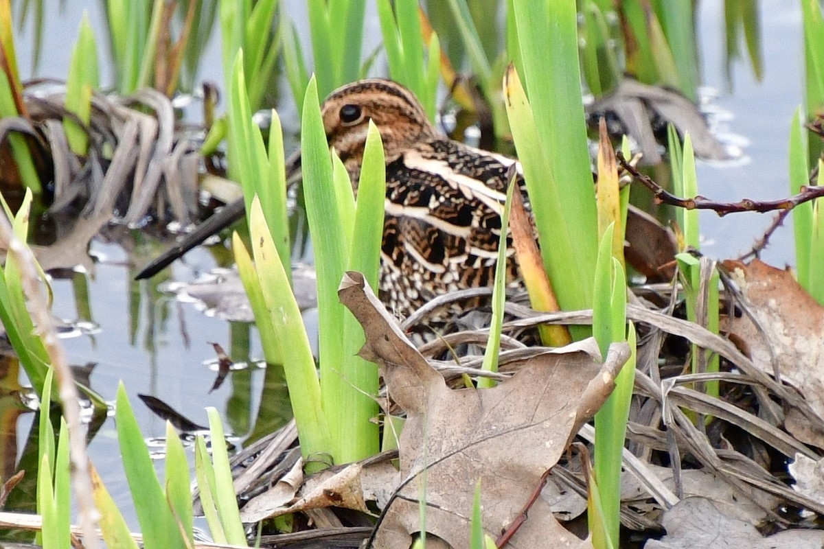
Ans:
{"type": "MultiPolygon", "coordinates": [[[[291,186],[296,183],[301,177],[301,155],[300,151],[296,151],[286,161],[286,184],[291,186]]],[[[233,202],[229,202],[222,207],[218,212],[213,213],[206,221],[199,226],[194,227],[190,233],[183,235],[182,238],[167,249],[166,252],[157,256],[154,260],[148,263],[134,280],[143,280],[150,278],[168,267],[177,258],[180,258],[195,246],[203,244],[204,240],[212,235],[217,235],[223,229],[231,226],[236,221],[240,221],[246,213],[246,205],[243,198],[238,198],[233,202]]]]}

